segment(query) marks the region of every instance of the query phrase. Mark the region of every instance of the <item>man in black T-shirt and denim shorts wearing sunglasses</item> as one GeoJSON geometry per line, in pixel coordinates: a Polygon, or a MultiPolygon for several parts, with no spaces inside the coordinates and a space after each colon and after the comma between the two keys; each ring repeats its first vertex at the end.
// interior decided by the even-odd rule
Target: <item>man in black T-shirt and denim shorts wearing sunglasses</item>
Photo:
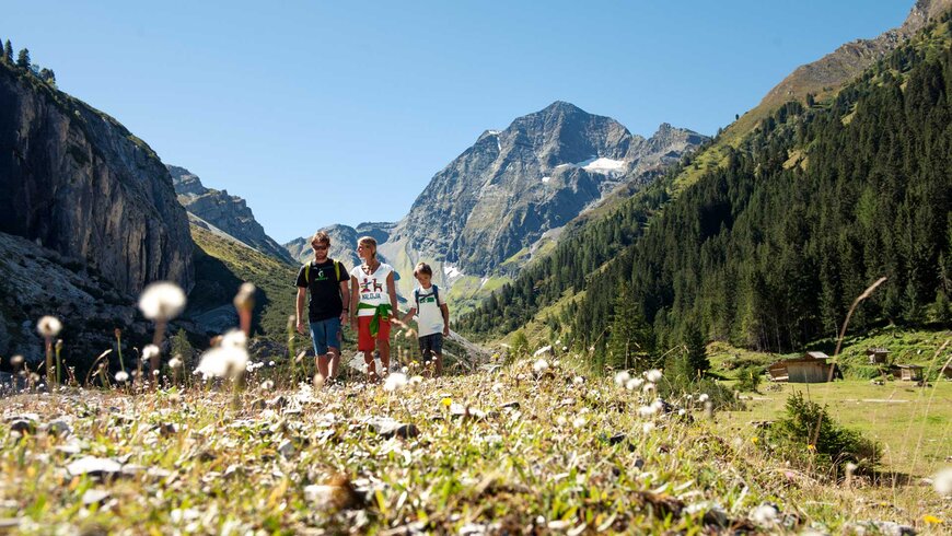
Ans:
{"type": "Polygon", "coordinates": [[[327,256],[330,236],[318,231],[311,237],[314,259],[298,272],[298,333],[304,330],[304,295],[310,291],[307,321],[317,372],[327,380],[340,366],[340,326],[350,314],[350,275],[347,268],[327,256]]]}

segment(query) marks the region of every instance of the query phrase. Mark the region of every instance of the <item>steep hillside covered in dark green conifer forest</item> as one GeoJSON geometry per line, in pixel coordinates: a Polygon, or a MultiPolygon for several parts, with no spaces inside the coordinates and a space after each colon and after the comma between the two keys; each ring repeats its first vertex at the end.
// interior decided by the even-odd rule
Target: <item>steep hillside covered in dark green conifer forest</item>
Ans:
{"type": "Polygon", "coordinates": [[[659,348],[698,329],[786,352],[835,335],[881,276],[856,329],[948,322],[948,20],[832,102],[788,103],[736,149],[716,140],[568,236],[461,326],[498,337],[585,290],[549,316],[578,347],[605,351],[620,301],[637,304],[653,327],[646,342],[659,348]],[[704,159],[710,165],[695,166],[704,159]],[[631,290],[619,300],[623,283],[631,290]]]}

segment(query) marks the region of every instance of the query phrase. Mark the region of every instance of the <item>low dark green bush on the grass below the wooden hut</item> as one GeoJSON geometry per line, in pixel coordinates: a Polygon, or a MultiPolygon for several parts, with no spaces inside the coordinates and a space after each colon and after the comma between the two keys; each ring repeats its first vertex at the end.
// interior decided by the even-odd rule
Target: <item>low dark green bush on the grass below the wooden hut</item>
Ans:
{"type": "Polygon", "coordinates": [[[857,464],[859,470],[871,470],[880,457],[878,443],[838,426],[826,406],[803,398],[800,392],[787,398],[786,416],[767,433],[787,459],[822,471],[838,473],[846,463],[857,464]]]}

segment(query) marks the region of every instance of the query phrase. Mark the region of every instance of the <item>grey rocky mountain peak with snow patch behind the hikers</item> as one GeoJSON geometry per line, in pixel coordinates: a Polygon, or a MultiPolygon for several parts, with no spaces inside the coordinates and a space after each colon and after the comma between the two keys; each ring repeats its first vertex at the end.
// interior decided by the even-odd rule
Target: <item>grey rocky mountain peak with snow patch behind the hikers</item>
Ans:
{"type": "MultiPolygon", "coordinates": [[[[646,139],[609,117],[556,102],[504,130],[486,130],[430,179],[400,221],[325,231],[333,253],[351,263],[356,238],[375,236],[381,257],[405,276],[404,294],[414,284],[413,267],[426,260],[438,283],[478,295],[491,280],[519,273],[579,214],[620,186],[649,182],[706,139],[667,124],[646,139]]],[[[300,260],[311,256],[304,238],[285,247],[300,260]]]]}

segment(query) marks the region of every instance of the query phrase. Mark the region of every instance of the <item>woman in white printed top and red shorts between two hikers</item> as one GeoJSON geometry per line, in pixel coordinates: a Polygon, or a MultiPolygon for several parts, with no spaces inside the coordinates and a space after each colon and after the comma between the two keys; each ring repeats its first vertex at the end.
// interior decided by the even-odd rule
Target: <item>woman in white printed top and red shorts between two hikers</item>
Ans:
{"type": "Polygon", "coordinates": [[[375,378],[374,348],[385,373],[390,370],[390,326],[397,313],[393,267],[376,258],[376,241],[363,236],[357,241],[357,256],[363,264],[350,270],[350,327],[357,329],[357,350],[363,352],[367,373],[375,378]]]}

